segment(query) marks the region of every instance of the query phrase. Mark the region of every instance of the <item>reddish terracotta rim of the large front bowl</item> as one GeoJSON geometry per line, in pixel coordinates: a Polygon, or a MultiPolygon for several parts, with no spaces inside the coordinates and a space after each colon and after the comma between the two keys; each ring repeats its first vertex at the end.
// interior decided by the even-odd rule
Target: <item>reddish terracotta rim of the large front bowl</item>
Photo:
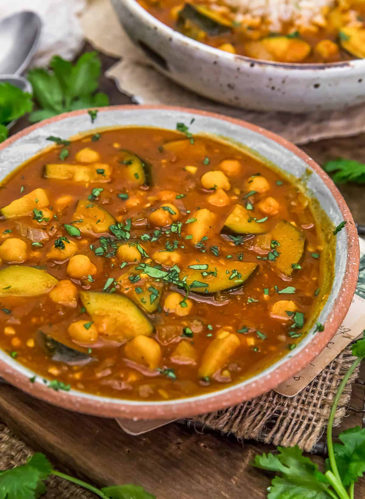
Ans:
{"type": "MultiPolygon", "coordinates": [[[[98,109],[99,113],[116,110],[138,112],[143,110],[171,110],[227,121],[236,126],[247,128],[258,134],[264,135],[274,142],[279,143],[281,146],[305,161],[307,165],[321,177],[322,181],[325,183],[336,200],[343,219],[348,221],[344,229],[347,237],[348,259],[346,262],[345,276],[341,286],[339,286],[342,290],[341,296],[337,296],[335,299],[334,305],[327,316],[324,332],[313,336],[313,339],[307,345],[307,348],[303,348],[297,354],[293,355],[293,357],[286,360],[284,364],[274,368],[271,373],[260,376],[260,378],[256,381],[245,381],[246,384],[243,387],[240,386],[240,384],[234,385],[233,387],[230,387],[229,391],[226,393],[216,391],[204,396],[191,397],[190,399],[177,399],[166,402],[143,402],[110,398],[105,398],[104,400],[103,397],[96,397],[88,393],[80,393],[77,391],[75,392],[76,394],[72,392],[56,392],[49,389],[41,382],[30,383],[28,377],[17,369],[16,364],[9,365],[3,360],[0,360],[0,376],[30,395],[60,406],[64,409],[93,414],[100,417],[123,417],[132,418],[134,420],[151,420],[189,417],[234,406],[243,400],[249,400],[270,391],[281,382],[288,379],[288,377],[293,376],[303,367],[308,365],[320,353],[320,351],[325,348],[341,325],[342,320],[350,307],[356,289],[360,263],[359,237],[353,217],[343,196],[326,172],[304,151],[279,135],[243,120],[231,118],[221,114],[210,113],[197,109],[161,105],[118,105],[94,109],[98,109]]],[[[79,116],[85,114],[86,112],[87,111],[85,109],[82,109],[63,113],[24,128],[20,132],[2,142],[0,144],[0,152],[21,137],[28,135],[30,132],[37,130],[38,128],[42,128],[44,125],[55,123],[70,117],[79,116]]]]}

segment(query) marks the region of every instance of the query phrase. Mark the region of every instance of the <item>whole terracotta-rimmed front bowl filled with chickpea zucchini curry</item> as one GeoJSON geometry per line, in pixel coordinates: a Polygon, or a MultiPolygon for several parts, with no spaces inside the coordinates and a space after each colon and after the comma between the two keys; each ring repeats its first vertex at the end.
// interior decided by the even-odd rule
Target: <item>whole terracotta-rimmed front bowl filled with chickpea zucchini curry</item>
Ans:
{"type": "Polygon", "coordinates": [[[109,417],[221,409],[307,365],[350,306],[349,209],[271,132],[115,106],[31,126],[0,157],[0,375],[36,397],[109,417]]]}

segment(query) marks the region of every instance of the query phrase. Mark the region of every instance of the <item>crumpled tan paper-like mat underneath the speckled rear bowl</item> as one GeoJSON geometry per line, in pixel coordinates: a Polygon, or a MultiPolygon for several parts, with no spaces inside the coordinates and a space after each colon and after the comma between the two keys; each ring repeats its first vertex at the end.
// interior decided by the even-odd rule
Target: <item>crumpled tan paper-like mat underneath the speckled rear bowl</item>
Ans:
{"type": "Polygon", "coordinates": [[[81,25],[85,38],[96,49],[120,57],[120,62],[106,74],[115,79],[121,91],[133,96],[139,104],[192,107],[226,114],[267,128],[295,144],[349,137],[365,131],[365,105],[344,111],[299,115],[265,113],[219,104],[186,90],[151,66],[120,26],[110,0],[88,0],[81,25]]]}

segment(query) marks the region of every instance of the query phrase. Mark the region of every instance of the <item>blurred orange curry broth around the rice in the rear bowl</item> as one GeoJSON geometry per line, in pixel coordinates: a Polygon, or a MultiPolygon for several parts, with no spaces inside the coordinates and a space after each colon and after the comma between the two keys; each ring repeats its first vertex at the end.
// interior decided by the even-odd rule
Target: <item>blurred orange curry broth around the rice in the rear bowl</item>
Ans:
{"type": "MultiPolygon", "coordinates": [[[[222,34],[216,34],[214,36],[210,36],[208,32],[205,32],[204,29],[199,29],[198,27],[193,27],[192,24],[178,25],[178,12],[179,9],[182,9],[184,4],[192,4],[198,6],[205,6],[208,8],[212,7],[212,2],[210,0],[193,0],[189,2],[181,2],[181,0],[138,0],[143,8],[145,8],[148,12],[150,12],[154,17],[156,17],[159,21],[163,22],[167,26],[170,26],[173,29],[177,29],[178,31],[186,34],[187,36],[197,39],[197,41],[201,41],[206,45],[211,45],[215,48],[222,48],[222,50],[226,50],[228,52],[233,52],[240,55],[247,55],[249,57],[257,58],[257,59],[266,59],[264,55],[260,56],[259,52],[255,55],[254,49],[250,49],[248,52],[246,50],[246,44],[251,42],[256,42],[257,40],[261,40],[267,36],[275,35],[284,35],[291,33],[298,33],[298,36],[294,36],[292,38],[293,46],[288,47],[288,50],[292,52],[292,56],[289,54],[283,54],[282,58],[277,58],[273,56],[273,59],[277,62],[299,62],[299,63],[324,63],[324,62],[340,62],[346,60],[357,59],[360,56],[355,56],[351,54],[349,51],[345,50],[340,42],[339,42],[339,33],[341,28],[337,25],[331,23],[331,17],[328,21],[328,25],[326,27],[320,26],[310,26],[310,28],[300,29],[298,31],[297,27],[295,27],[291,23],[284,23],[283,29],[280,33],[271,33],[270,30],[265,26],[256,26],[252,27],[249,24],[246,26],[244,24],[235,24],[234,19],[235,9],[232,7],[231,16],[229,14],[223,15],[223,19],[226,22],[232,22],[231,29],[222,34]],[[312,29],[313,28],[313,29],[312,29]],[[296,39],[303,40],[308,43],[311,47],[308,55],[304,57],[300,57],[297,52],[297,48],[295,46],[296,39]],[[330,47],[330,50],[327,53],[321,52],[316,49],[316,45],[322,40],[330,40],[334,42],[335,45],[330,47]],[[230,44],[231,47],[225,47],[224,44],[230,44]],[[337,45],[337,47],[336,47],[337,45]],[[326,53],[326,55],[324,55],[326,53]]],[[[358,12],[358,20],[359,22],[364,22],[365,19],[365,4],[364,2],[353,2],[353,9],[358,12]]],[[[226,6],[229,8],[224,1],[216,1],[213,2],[213,5],[218,6],[226,6]]],[[[334,9],[333,9],[334,10],[334,9]]],[[[212,11],[214,12],[214,6],[212,11]]],[[[346,13],[346,7],[343,9],[336,9],[336,12],[343,11],[346,13]]],[[[336,19],[340,14],[336,14],[336,19]]],[[[335,17],[335,16],[334,16],[335,17]]],[[[333,22],[338,22],[333,21],[333,22]]],[[[364,24],[363,24],[364,28],[364,24]]],[[[344,36],[344,35],[342,35],[344,36]]],[[[298,47],[299,52],[301,52],[301,48],[298,47]]]]}

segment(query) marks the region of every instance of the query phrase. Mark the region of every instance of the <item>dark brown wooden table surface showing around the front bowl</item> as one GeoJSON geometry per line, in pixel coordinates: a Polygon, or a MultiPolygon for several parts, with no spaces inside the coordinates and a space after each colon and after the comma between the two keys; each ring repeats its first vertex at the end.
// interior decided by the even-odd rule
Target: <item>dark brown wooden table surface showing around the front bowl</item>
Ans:
{"type": "MultiPolygon", "coordinates": [[[[85,46],[85,50],[90,49],[85,46]]],[[[104,71],[116,60],[103,54],[100,57],[104,71]]],[[[131,103],[106,77],[102,78],[101,90],[109,95],[111,104],[131,103]]],[[[20,119],[11,132],[27,125],[26,118],[20,119]]],[[[339,156],[365,162],[365,134],[323,140],[303,149],[320,164],[339,156]]],[[[364,189],[352,184],[340,186],[356,222],[362,225],[364,189]]],[[[360,408],[363,400],[363,387],[357,385],[351,405],[360,408]]],[[[158,499],[264,499],[272,477],[250,465],[255,454],[271,452],[271,446],[240,443],[217,432],[200,434],[177,423],[131,437],[114,420],[55,408],[9,385],[1,386],[0,420],[34,450],[45,452],[59,468],[87,477],[99,486],[140,484],[158,499]]],[[[361,414],[350,411],[335,434],[361,422],[361,414]]],[[[314,459],[323,466],[322,457],[314,459]]],[[[365,497],[364,481],[356,497],[365,497]]]]}

